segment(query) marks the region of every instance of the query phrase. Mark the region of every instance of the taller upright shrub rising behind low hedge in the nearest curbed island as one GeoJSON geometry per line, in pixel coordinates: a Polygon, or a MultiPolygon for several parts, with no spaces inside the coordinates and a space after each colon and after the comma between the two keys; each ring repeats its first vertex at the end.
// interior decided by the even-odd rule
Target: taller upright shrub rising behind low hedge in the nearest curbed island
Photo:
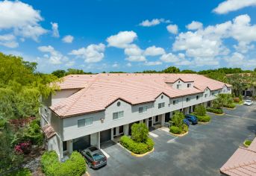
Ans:
{"type": "Polygon", "coordinates": [[[144,123],[133,124],[131,126],[131,139],[135,142],[146,142],[149,138],[149,128],[144,123]]]}

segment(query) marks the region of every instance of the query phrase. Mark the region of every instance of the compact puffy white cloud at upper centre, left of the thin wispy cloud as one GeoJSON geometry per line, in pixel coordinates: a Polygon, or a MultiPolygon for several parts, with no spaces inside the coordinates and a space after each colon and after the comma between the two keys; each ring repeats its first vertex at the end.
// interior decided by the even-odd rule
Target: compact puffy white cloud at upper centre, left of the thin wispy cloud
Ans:
{"type": "Polygon", "coordinates": [[[107,43],[109,46],[116,48],[126,48],[129,44],[133,43],[137,38],[137,34],[134,31],[120,31],[118,34],[107,37],[107,43]]]}

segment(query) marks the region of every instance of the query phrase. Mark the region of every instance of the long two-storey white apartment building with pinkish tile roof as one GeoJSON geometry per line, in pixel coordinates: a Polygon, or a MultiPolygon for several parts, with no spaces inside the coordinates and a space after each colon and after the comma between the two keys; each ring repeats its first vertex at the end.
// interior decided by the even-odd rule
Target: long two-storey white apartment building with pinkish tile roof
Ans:
{"type": "Polygon", "coordinates": [[[41,126],[46,147],[59,158],[72,151],[131,133],[131,125],[169,122],[175,111],[210,106],[231,85],[196,74],[68,75],[60,89],[42,98],[41,126]]]}

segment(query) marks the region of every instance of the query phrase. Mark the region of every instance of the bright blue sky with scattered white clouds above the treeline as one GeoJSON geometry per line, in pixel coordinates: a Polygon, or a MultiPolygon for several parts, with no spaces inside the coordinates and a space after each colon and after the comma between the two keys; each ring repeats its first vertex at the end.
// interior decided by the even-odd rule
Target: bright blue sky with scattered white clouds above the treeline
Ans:
{"type": "Polygon", "coordinates": [[[256,1],[0,1],[0,51],[40,72],[256,67],[256,1]]]}

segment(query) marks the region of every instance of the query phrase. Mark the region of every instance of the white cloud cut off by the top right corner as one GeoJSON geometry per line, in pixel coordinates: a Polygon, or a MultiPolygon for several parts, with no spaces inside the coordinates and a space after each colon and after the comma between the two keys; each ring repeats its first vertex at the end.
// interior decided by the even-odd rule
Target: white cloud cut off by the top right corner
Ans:
{"type": "Polygon", "coordinates": [[[213,12],[219,14],[229,13],[244,7],[255,6],[256,0],[226,0],[213,9],[213,12]]]}

